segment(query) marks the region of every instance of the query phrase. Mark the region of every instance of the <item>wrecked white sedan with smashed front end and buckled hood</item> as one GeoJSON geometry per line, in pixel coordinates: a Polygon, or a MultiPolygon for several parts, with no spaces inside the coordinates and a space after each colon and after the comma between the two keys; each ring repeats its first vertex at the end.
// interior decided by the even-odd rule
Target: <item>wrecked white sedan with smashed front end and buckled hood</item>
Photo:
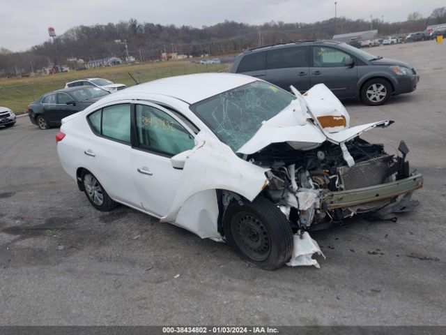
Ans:
{"type": "Polygon", "coordinates": [[[245,75],[169,77],[118,91],[62,120],[63,169],[93,207],[118,203],[263,269],[316,265],[312,230],[415,207],[422,175],[350,127],[323,84],[303,96],[245,75]]]}

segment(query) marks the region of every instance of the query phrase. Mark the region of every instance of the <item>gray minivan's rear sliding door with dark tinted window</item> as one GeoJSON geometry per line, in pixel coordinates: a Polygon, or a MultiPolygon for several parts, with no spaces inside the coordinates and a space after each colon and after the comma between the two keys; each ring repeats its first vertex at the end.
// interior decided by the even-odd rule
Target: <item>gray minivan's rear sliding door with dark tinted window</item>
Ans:
{"type": "Polygon", "coordinates": [[[280,47],[266,55],[266,80],[282,89],[309,89],[309,45],[280,47]]]}

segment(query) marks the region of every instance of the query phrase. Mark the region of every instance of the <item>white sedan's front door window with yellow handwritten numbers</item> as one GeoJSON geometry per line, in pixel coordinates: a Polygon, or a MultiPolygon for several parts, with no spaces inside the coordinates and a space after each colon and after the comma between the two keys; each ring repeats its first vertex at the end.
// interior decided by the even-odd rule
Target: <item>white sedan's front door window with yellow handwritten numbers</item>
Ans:
{"type": "Polygon", "coordinates": [[[194,147],[194,137],[169,114],[137,105],[138,143],[143,149],[175,156],[194,147]]]}

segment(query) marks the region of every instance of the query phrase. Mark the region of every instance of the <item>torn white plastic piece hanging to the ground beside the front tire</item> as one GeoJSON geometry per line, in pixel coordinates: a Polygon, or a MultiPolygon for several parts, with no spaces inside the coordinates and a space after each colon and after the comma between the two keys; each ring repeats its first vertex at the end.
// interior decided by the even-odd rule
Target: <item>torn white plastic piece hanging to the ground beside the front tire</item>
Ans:
{"type": "Polygon", "coordinates": [[[321,248],[312,237],[309,236],[308,232],[304,232],[302,235],[293,235],[293,254],[291,255],[291,260],[286,263],[289,267],[299,267],[299,266],[312,266],[320,268],[317,260],[312,258],[314,254],[323,255],[321,248]]]}

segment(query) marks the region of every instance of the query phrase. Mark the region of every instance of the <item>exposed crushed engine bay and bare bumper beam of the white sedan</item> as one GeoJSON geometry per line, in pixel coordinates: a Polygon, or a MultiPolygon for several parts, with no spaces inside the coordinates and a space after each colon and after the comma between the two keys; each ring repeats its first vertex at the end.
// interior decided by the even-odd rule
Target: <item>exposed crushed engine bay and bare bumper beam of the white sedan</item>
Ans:
{"type": "Polygon", "coordinates": [[[355,214],[374,215],[381,209],[389,214],[417,205],[410,195],[422,187],[423,178],[410,172],[404,142],[400,156],[360,137],[345,146],[353,166],[346,163],[341,146],[331,142],[307,151],[286,142],[270,144],[249,156],[252,163],[270,169],[265,193],[289,218],[294,232],[328,228],[355,214]]]}

